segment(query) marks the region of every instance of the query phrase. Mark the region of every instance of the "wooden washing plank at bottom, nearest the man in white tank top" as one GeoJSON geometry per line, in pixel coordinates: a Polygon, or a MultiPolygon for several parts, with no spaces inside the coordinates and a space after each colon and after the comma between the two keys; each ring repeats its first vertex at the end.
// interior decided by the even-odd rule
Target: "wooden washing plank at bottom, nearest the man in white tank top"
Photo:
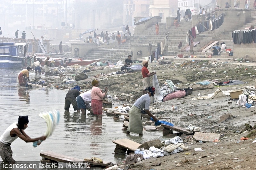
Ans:
{"type": "Polygon", "coordinates": [[[47,158],[47,159],[51,159],[54,161],[58,161],[58,162],[83,162],[83,159],[78,159],[78,158],[73,158],[73,157],[69,157],[69,156],[64,156],[58,153],[54,153],[51,151],[45,151],[40,153],[41,157],[47,158]]]}

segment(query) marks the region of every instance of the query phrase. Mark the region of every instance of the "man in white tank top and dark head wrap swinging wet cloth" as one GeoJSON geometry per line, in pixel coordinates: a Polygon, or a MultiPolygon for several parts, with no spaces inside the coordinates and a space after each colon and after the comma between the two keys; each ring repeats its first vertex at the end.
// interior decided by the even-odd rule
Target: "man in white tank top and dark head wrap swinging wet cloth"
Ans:
{"type": "Polygon", "coordinates": [[[3,135],[0,137],[0,155],[3,161],[11,164],[15,163],[15,160],[12,158],[10,145],[18,137],[25,142],[44,141],[46,139],[46,136],[31,139],[24,131],[27,127],[28,116],[19,116],[18,123],[13,123],[4,131],[3,135]]]}

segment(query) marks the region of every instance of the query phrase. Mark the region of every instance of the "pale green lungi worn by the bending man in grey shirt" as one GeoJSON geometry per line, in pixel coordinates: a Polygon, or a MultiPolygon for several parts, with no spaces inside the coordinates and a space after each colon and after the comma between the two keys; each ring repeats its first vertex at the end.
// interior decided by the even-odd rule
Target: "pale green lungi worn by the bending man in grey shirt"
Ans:
{"type": "Polygon", "coordinates": [[[140,116],[140,109],[134,105],[129,110],[129,127],[127,131],[142,134],[143,126],[140,116]]]}

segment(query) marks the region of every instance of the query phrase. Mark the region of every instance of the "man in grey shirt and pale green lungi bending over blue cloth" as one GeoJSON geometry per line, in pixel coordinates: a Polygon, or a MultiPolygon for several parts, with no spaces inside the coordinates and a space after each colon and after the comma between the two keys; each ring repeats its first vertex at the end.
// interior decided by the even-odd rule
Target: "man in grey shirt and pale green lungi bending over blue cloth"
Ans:
{"type": "Polygon", "coordinates": [[[127,135],[129,135],[130,132],[133,132],[142,136],[143,127],[140,112],[143,109],[150,117],[153,118],[154,121],[157,121],[156,117],[149,111],[150,97],[154,96],[156,89],[154,86],[149,86],[145,91],[147,91],[147,94],[138,98],[129,110],[129,127],[126,131],[127,135]]]}

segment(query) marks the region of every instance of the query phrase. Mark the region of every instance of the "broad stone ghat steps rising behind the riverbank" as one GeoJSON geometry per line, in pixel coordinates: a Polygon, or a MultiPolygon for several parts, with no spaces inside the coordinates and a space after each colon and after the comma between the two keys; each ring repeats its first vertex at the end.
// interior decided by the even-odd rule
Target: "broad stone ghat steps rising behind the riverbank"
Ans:
{"type": "MultiPolygon", "coordinates": [[[[244,26],[238,27],[239,29],[244,29],[246,27],[250,27],[251,25],[256,24],[256,12],[252,13],[252,17],[249,19],[248,23],[244,26]]],[[[225,21],[224,22],[228,22],[225,21]]],[[[164,36],[167,35],[169,38],[168,42],[168,50],[165,52],[165,56],[176,56],[178,54],[183,54],[183,56],[190,56],[189,50],[186,50],[186,33],[189,29],[191,29],[191,22],[181,20],[180,27],[177,29],[172,26],[170,29],[166,30],[166,23],[159,23],[159,35],[155,35],[155,25],[152,25],[147,28],[147,32],[141,36],[127,36],[126,43],[118,45],[117,41],[110,40],[110,43],[103,43],[100,45],[99,49],[91,50],[87,55],[86,59],[94,59],[94,58],[102,58],[102,61],[111,61],[117,62],[118,60],[124,61],[125,58],[128,57],[131,51],[131,44],[145,44],[148,45],[148,42],[152,43],[161,43],[164,36]],[[181,49],[178,49],[179,42],[182,42],[181,49]]],[[[227,45],[227,49],[233,49],[233,38],[232,38],[233,30],[226,30],[222,26],[214,31],[206,31],[202,32],[199,35],[196,35],[195,42],[199,42],[194,46],[194,56],[196,57],[207,57],[211,55],[210,47],[212,45],[216,45],[217,42],[220,43],[225,42],[227,45]],[[206,47],[208,47],[207,50],[206,47]]],[[[154,49],[152,49],[154,50],[154,49]]],[[[133,54],[135,55],[135,54],[133,54]]],[[[146,57],[146,56],[143,56],[146,57]]],[[[214,56],[213,56],[214,57],[214,56]]],[[[219,56],[218,56],[219,57],[219,56]]],[[[221,53],[221,57],[228,57],[228,53],[221,53]]],[[[142,58],[141,58],[142,59],[142,58]]]]}

